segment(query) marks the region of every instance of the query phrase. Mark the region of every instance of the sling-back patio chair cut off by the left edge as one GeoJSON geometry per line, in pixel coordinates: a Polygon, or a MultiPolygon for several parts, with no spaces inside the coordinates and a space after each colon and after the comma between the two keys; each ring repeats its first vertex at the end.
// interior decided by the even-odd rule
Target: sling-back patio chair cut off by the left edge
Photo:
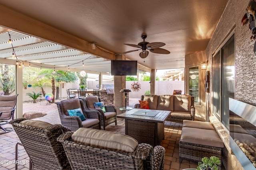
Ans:
{"type": "Polygon", "coordinates": [[[0,95],[0,134],[7,133],[13,130],[13,128],[11,127],[4,128],[2,127],[2,125],[9,123],[9,119],[14,119],[17,96],[18,94],[11,96],[0,95]]]}

